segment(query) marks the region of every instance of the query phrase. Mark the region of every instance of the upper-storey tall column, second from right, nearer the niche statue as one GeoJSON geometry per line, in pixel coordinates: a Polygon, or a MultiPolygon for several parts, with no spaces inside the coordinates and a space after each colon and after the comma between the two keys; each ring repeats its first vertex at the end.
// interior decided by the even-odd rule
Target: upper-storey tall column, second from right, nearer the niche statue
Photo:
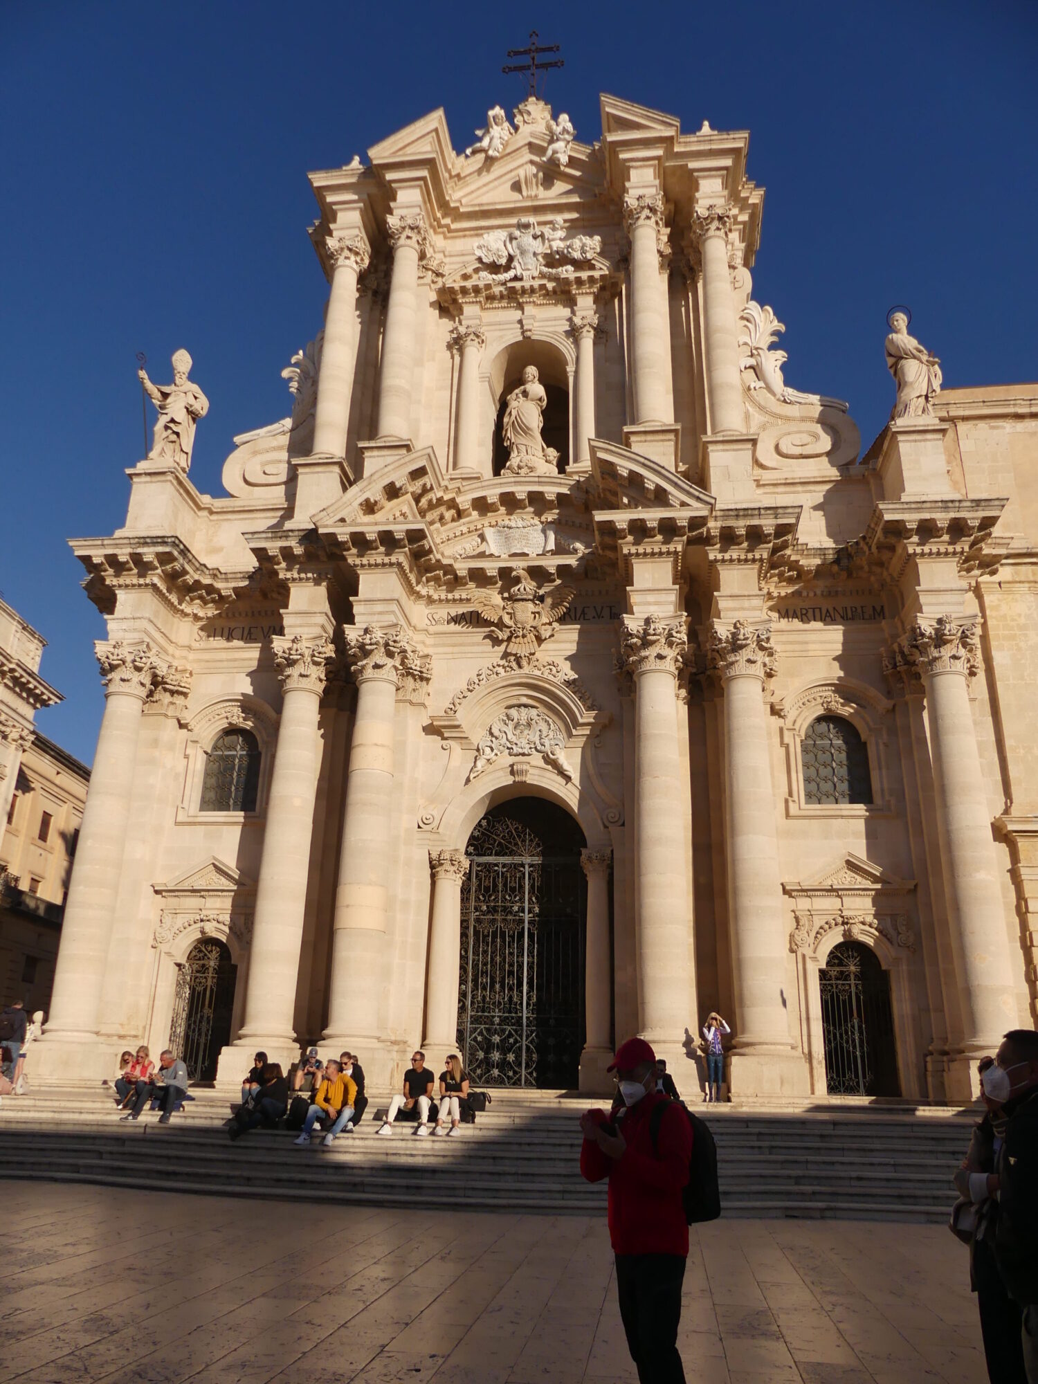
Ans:
{"type": "Polygon", "coordinates": [[[674,421],[667,394],[670,329],[663,320],[659,237],[663,195],[628,197],[624,226],[631,238],[631,353],[634,356],[634,421],[674,421]]]}

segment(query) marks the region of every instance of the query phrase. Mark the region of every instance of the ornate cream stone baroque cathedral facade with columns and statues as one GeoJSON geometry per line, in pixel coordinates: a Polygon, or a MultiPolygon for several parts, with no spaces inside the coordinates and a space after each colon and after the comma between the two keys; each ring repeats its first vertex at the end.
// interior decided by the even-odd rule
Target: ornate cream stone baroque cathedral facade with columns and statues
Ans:
{"type": "MultiPolygon", "coordinates": [[[[1038,386],[891,422],[785,382],[749,136],[537,98],[311,174],[291,418],[190,479],[177,352],[126,523],[40,1080],[415,1044],[473,1081],[969,1098],[1035,1005],[1038,386]]],[[[879,336],[877,336],[879,343],[879,336]]]]}

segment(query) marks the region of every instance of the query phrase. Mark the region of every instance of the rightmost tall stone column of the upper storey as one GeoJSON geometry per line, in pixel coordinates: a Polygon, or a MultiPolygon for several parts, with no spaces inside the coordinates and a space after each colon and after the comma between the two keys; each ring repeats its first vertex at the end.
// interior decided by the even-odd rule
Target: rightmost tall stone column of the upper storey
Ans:
{"type": "Polygon", "coordinates": [[[739,379],[739,332],[728,268],[729,206],[707,206],[695,213],[692,231],[699,241],[703,274],[703,336],[710,432],[746,430],[739,379]]]}

